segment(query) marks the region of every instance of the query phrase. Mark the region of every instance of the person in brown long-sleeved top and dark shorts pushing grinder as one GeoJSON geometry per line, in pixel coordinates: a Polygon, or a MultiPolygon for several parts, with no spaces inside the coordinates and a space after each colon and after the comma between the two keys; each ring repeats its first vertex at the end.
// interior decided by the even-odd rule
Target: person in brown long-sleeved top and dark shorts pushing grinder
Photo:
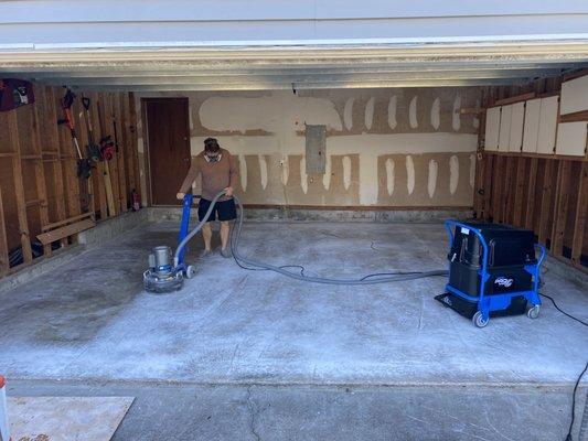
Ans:
{"type": "Polygon", "coordinates": [[[222,190],[226,192],[226,195],[216,202],[211,217],[209,217],[209,222],[202,227],[204,251],[201,257],[206,257],[212,254],[212,229],[210,223],[216,220],[216,218],[221,222],[221,255],[223,257],[231,257],[231,249],[227,247],[229,233],[228,222],[237,217],[235,201],[233,200],[233,185],[237,179],[235,159],[227,150],[221,149],[216,139],[206,138],[204,140],[204,151],[192,160],[188,175],[177,195],[179,200],[183,200],[199,174],[202,175],[202,198],[199,204],[200,220],[204,218],[214,196],[222,190]]]}

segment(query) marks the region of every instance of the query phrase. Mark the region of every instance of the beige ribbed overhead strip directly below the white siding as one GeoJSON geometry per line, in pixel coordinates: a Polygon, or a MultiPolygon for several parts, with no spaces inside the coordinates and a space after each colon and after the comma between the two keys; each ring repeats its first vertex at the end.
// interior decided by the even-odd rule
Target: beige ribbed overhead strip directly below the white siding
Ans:
{"type": "Polygon", "coordinates": [[[3,76],[121,90],[524,84],[588,67],[588,44],[78,50],[0,55],[3,76]]]}

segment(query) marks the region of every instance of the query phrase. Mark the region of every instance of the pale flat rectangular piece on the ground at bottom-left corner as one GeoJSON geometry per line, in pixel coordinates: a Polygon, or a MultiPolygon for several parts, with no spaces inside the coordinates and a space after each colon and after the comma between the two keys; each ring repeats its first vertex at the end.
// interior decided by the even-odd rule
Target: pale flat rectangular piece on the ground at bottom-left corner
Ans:
{"type": "Polygon", "coordinates": [[[108,441],[133,397],[11,397],[8,416],[13,440],[108,441]],[[43,435],[45,438],[43,438],[43,435]]]}

